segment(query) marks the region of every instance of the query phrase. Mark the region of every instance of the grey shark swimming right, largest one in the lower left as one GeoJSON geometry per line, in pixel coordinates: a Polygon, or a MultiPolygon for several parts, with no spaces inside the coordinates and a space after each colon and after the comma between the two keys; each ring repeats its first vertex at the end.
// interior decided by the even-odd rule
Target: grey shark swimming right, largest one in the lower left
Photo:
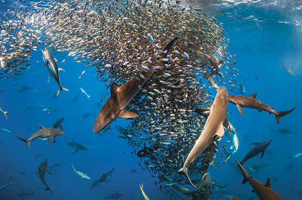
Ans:
{"type": "MultiPolygon", "coordinates": [[[[34,134],[32,134],[29,139],[23,139],[21,137],[19,137],[17,134],[16,136],[21,139],[22,141],[27,143],[27,146],[29,147],[30,145],[30,140],[34,140],[35,138],[40,138],[40,137],[48,137],[48,142],[47,142],[47,146],[50,144],[52,138],[61,135],[63,133],[65,133],[66,131],[64,130],[60,130],[60,129],[56,129],[56,128],[44,128],[43,126],[39,125],[40,130],[38,130],[37,132],[35,132],[34,134]]],[[[55,139],[54,139],[55,140],[55,139]]]]}

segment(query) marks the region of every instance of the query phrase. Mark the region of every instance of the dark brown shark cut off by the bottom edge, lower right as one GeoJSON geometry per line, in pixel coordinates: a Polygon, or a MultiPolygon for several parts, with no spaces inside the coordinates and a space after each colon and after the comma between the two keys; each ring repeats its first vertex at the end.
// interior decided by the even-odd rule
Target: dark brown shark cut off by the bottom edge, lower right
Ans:
{"type": "Polygon", "coordinates": [[[259,180],[256,180],[255,178],[250,176],[248,174],[248,172],[245,170],[245,168],[237,160],[235,160],[235,162],[238,164],[238,166],[243,174],[243,177],[244,177],[242,184],[249,181],[253,187],[252,192],[255,192],[260,200],[269,200],[269,199],[282,200],[283,199],[279,194],[277,194],[277,192],[275,192],[272,189],[272,184],[271,184],[270,178],[267,178],[266,184],[263,184],[259,180]]]}

